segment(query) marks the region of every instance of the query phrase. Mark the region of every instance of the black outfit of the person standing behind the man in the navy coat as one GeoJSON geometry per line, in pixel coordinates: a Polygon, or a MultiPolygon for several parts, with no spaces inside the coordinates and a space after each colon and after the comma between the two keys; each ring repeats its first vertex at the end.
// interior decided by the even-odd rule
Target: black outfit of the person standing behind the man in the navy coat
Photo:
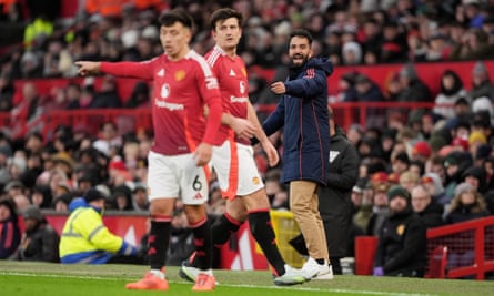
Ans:
{"type": "Polygon", "coordinates": [[[324,222],[331,257],[345,257],[351,251],[352,188],[359,177],[359,153],[336,129],[331,137],[327,185],[319,188],[319,211],[324,222]]]}

